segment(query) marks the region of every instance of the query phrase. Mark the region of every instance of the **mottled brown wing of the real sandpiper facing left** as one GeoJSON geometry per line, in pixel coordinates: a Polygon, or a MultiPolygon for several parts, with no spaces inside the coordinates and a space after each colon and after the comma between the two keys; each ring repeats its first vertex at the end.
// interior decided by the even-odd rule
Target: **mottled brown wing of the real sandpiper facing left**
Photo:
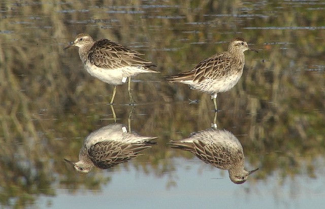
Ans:
{"type": "Polygon", "coordinates": [[[128,47],[107,39],[96,41],[88,53],[90,63],[104,69],[116,69],[131,66],[150,67],[150,61],[139,57],[143,55],[128,47]]]}

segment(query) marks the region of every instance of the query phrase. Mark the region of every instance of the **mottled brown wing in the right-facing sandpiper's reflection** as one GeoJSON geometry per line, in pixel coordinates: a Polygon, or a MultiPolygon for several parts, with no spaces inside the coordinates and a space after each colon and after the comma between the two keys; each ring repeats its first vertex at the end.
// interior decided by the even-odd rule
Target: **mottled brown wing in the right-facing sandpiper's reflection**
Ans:
{"type": "Polygon", "coordinates": [[[206,143],[201,140],[193,141],[193,144],[195,147],[194,154],[203,162],[223,170],[231,168],[231,154],[224,146],[216,143],[206,143]]]}

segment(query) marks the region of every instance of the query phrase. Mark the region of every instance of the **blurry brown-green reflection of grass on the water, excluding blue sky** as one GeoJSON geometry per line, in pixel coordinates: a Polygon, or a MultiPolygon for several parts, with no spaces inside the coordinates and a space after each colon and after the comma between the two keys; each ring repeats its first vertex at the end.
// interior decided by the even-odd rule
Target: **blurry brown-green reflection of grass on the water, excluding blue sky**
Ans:
{"type": "MultiPolygon", "coordinates": [[[[82,70],[77,50],[62,50],[81,32],[142,51],[161,72],[138,77],[160,82],[132,83],[136,99],[145,104],[136,107],[132,127],[142,135],[160,136],[159,143],[144,157],[123,166],[137,166],[161,176],[175,167],[174,156],[192,157],[171,150],[166,142],[208,128],[213,120],[209,111],[213,104],[208,95],[190,91],[182,84],[169,84],[164,76],[189,70],[203,58],[226,49],[226,43],[216,42],[243,36],[260,52],[246,52],[242,79],[230,92],[218,96],[218,105],[223,109],[218,114],[218,126],[238,135],[247,161],[252,167],[263,167],[256,173],[259,177],[266,178],[277,169],[282,170],[284,177],[288,173],[294,176],[301,172],[304,163],[313,176],[312,159],[302,159],[324,153],[324,74],[305,69],[321,65],[324,48],[319,43],[325,35],[318,29],[242,28],[320,26],[324,19],[322,10],[311,13],[285,3],[258,8],[227,1],[185,1],[180,6],[169,2],[170,7],[154,9],[143,9],[141,1],[132,3],[130,8],[118,7],[122,4],[119,1],[114,6],[116,10],[143,13],[106,13],[109,7],[95,3],[2,3],[2,15],[7,18],[0,21],[0,28],[11,32],[0,33],[0,143],[5,144],[0,154],[0,185],[8,194],[2,196],[2,202],[10,204],[14,197],[18,198],[15,204],[23,206],[33,203],[35,196],[29,194],[55,195],[53,182],[63,188],[100,189],[102,183],[110,181],[101,178],[100,172],[78,176],[68,171],[62,161],[67,156],[77,157],[88,133],[111,123],[102,119],[111,117],[106,103],[112,86],[82,70]],[[273,6],[283,9],[274,11],[273,6]],[[89,12],[82,12],[84,8],[89,12]],[[64,10],[75,12],[61,12],[64,10]],[[246,13],[266,17],[237,16],[246,13]],[[163,18],[173,16],[180,18],[163,18]],[[200,42],[204,44],[191,44],[200,42]],[[284,44],[264,44],[273,42],[284,44]],[[183,103],[188,98],[200,99],[201,103],[188,106],[183,103]],[[265,155],[267,152],[270,154],[265,155]],[[141,164],[144,161],[149,161],[150,167],[141,164]],[[26,162],[28,166],[21,167],[26,162]],[[15,183],[17,176],[23,181],[15,183]]],[[[105,1],[103,5],[110,4],[105,1]]],[[[125,92],[126,86],[118,87],[117,104],[127,101],[125,92]]],[[[126,124],[128,108],[117,105],[115,110],[126,124]]]]}

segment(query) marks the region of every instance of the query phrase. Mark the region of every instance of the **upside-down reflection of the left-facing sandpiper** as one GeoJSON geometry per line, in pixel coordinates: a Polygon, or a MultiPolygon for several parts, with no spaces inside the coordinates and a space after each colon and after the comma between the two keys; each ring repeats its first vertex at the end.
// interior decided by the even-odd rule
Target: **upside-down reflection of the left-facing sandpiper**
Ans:
{"type": "Polygon", "coordinates": [[[78,162],[64,160],[73,165],[77,172],[87,174],[95,166],[107,169],[140,156],[141,151],[155,144],[152,140],[156,138],[139,136],[127,132],[121,124],[111,124],[90,133],[84,139],[78,162]]]}

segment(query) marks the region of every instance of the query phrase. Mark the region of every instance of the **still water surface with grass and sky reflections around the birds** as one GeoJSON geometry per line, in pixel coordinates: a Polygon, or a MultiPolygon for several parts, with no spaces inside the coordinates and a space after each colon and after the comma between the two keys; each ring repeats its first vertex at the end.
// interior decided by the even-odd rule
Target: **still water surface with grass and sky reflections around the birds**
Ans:
{"type": "Polygon", "coordinates": [[[3,208],[321,208],[325,197],[322,1],[0,3],[0,204],[3,208]],[[83,69],[79,33],[144,53],[159,74],[117,86],[117,123],[157,136],[143,156],[81,175],[83,139],[113,124],[113,86],[83,69]],[[218,95],[217,126],[243,146],[242,185],[170,140],[214,122],[210,95],[166,77],[243,37],[244,73],[218,95]],[[190,100],[200,100],[198,104],[190,100]],[[134,110],[133,110],[134,108],[134,110]],[[129,116],[130,112],[133,114],[129,116]]]}

